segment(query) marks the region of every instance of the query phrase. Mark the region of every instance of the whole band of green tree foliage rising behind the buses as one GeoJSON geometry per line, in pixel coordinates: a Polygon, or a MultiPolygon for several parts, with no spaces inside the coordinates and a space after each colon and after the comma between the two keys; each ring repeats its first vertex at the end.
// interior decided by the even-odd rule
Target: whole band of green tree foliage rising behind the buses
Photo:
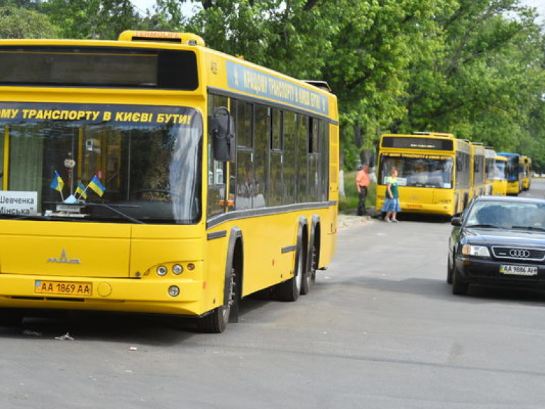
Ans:
{"type": "Polygon", "coordinates": [[[545,171],[545,33],[519,0],[156,0],[145,16],[129,0],[2,4],[4,38],[192,31],[211,48],[326,80],[346,169],[385,131],[449,131],[545,171]]]}

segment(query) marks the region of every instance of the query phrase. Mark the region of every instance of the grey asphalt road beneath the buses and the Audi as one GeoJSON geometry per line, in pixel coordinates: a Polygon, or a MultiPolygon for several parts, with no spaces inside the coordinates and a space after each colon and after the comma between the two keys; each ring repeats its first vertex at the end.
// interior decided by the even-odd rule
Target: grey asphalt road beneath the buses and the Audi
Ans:
{"type": "MultiPolygon", "coordinates": [[[[529,194],[544,192],[539,180],[529,194]]],[[[544,295],[452,295],[449,231],[414,218],[342,229],[309,295],[245,300],[224,334],[112,315],[0,328],[0,407],[543,408],[544,295]]]]}

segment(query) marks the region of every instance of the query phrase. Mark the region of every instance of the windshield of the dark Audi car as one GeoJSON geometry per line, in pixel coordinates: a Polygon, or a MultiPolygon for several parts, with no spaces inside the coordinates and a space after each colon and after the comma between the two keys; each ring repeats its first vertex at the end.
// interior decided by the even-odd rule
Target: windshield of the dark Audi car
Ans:
{"type": "Polygon", "coordinates": [[[545,230],[545,205],[525,202],[476,202],[466,227],[545,230]]]}

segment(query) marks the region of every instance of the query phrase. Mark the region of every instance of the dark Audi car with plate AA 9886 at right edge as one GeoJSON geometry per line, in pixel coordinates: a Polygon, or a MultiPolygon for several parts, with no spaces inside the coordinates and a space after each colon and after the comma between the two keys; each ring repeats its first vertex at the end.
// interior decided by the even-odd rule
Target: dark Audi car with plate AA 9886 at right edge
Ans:
{"type": "Polygon", "coordinates": [[[447,283],[545,290],[545,200],[478,196],[451,219],[447,283]]]}

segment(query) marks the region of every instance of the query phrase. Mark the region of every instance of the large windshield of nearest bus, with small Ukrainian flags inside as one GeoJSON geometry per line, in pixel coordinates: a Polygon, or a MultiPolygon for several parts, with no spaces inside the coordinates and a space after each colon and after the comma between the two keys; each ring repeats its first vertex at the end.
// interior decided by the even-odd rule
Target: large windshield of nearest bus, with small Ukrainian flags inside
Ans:
{"type": "Polygon", "coordinates": [[[194,224],[202,117],[187,107],[0,104],[0,217],[194,224]]]}

